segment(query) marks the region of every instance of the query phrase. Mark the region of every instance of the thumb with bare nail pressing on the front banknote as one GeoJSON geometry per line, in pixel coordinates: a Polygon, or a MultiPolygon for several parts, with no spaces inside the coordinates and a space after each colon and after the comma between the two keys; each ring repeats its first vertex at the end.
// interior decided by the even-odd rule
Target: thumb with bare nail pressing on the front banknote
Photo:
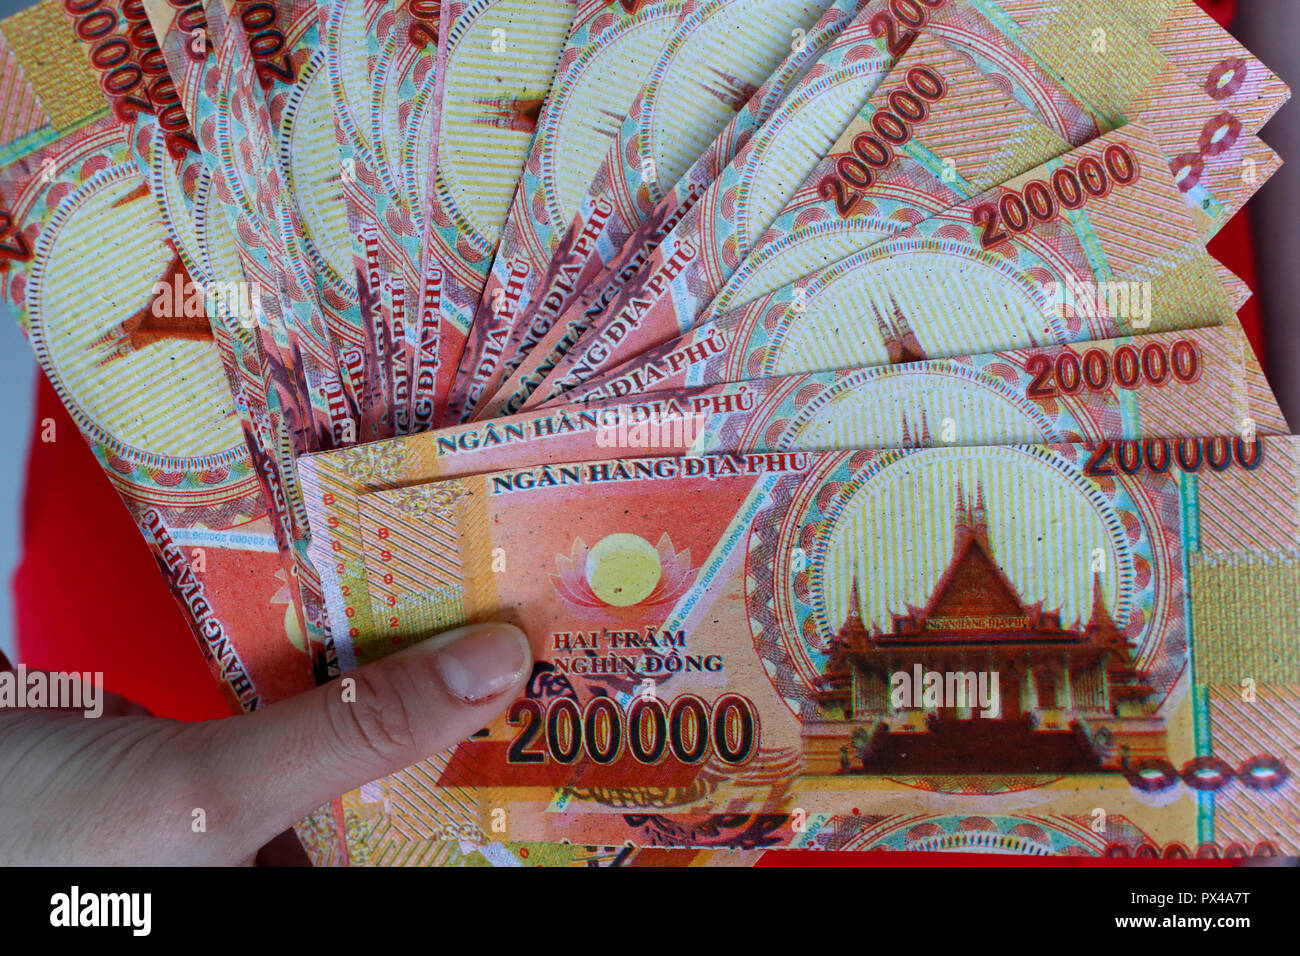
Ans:
{"type": "Polygon", "coordinates": [[[240,787],[240,831],[276,834],[346,791],[482,730],[520,695],[533,654],[511,624],[471,624],[248,717],[211,727],[212,779],[240,787]],[[347,684],[347,682],[354,682],[347,684]]]}

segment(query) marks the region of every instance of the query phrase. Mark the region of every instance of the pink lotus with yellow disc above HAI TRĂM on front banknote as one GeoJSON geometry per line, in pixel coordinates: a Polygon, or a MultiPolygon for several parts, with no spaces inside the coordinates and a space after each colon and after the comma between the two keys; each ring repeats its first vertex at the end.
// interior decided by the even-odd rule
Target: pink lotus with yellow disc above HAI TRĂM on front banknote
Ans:
{"type": "Polygon", "coordinates": [[[676,601],[694,578],[690,549],[677,551],[667,533],[651,545],[638,535],[608,535],[588,548],[575,538],[568,557],[555,555],[555,592],[576,607],[620,610],[676,601]]]}

